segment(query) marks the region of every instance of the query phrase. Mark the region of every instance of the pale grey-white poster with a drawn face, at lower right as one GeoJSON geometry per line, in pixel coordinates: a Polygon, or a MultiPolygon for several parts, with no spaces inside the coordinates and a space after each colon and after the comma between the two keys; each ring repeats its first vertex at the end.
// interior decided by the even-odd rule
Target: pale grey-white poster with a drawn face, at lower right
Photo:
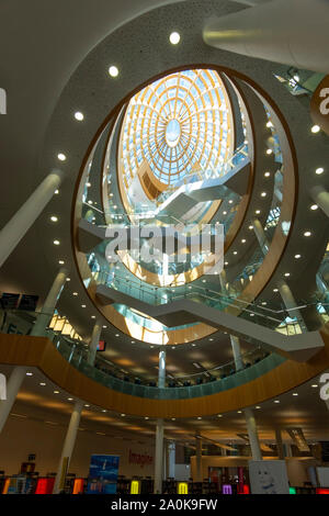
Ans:
{"type": "Polygon", "coordinates": [[[249,478],[252,494],[290,494],[284,460],[250,460],[249,478]]]}

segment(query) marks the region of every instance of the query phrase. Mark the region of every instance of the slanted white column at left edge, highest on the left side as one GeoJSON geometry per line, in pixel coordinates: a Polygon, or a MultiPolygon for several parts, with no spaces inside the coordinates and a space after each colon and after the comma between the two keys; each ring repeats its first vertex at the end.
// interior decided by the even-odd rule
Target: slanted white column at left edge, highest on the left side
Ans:
{"type": "Polygon", "coordinates": [[[60,170],[49,173],[0,232],[0,267],[34,224],[63,179],[60,170]]]}

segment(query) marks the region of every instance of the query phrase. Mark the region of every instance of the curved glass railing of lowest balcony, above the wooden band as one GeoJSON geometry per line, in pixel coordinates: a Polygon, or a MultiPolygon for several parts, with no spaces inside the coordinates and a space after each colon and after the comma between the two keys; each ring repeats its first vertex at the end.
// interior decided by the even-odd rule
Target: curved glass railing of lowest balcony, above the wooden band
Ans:
{"type": "MultiPolygon", "coordinates": [[[[12,328],[14,321],[24,321],[25,332],[29,335],[39,313],[18,310],[1,311],[1,315],[0,333],[7,333],[9,328],[12,328]]],[[[285,360],[257,346],[241,355],[242,369],[240,370],[236,369],[231,360],[208,370],[202,369],[194,374],[167,375],[166,388],[159,389],[157,378],[134,377],[102,358],[101,352],[98,354],[95,363],[91,366],[88,363],[89,347],[80,340],[71,339],[50,328],[46,329],[44,336],[52,340],[54,347],[69,364],[91,380],[124,394],[154,400],[183,400],[227,391],[265,374],[285,360]]]]}

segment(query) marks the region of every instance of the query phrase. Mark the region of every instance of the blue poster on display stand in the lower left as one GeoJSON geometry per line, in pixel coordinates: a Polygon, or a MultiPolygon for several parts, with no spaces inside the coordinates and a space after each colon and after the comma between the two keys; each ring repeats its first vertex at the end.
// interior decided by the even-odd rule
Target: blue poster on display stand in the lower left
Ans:
{"type": "Polygon", "coordinates": [[[115,494],[118,456],[93,455],[90,459],[88,494],[115,494]]]}

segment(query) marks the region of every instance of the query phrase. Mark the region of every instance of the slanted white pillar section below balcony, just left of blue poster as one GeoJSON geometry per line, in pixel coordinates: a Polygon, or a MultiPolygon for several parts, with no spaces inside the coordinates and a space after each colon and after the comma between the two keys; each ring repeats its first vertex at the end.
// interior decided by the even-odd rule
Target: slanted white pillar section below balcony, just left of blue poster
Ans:
{"type": "Polygon", "coordinates": [[[75,404],[70,423],[67,429],[67,434],[64,441],[64,447],[60,456],[60,461],[56,474],[55,485],[54,485],[54,494],[59,493],[59,491],[64,487],[65,476],[71,460],[71,456],[73,452],[77,433],[79,428],[81,411],[82,411],[83,402],[78,401],[75,404]]]}

